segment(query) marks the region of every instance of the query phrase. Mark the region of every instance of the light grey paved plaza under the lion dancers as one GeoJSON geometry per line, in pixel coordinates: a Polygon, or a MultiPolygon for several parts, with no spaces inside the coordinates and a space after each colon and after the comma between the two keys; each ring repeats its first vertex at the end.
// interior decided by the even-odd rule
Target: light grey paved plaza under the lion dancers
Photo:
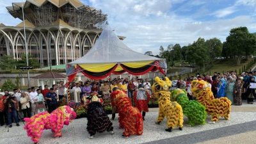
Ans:
{"type": "MultiPolygon", "coordinates": [[[[118,120],[113,120],[115,134],[108,132],[97,133],[95,138],[90,140],[86,131],[86,118],[74,120],[72,124],[63,128],[61,138],[53,138],[50,130],[44,131],[40,143],[256,143],[256,104],[245,104],[243,106],[232,106],[230,120],[220,120],[216,124],[196,125],[189,127],[186,125],[188,119],[184,119],[183,131],[173,129],[172,132],[166,132],[166,120],[161,125],[156,125],[158,108],[150,109],[144,121],[144,131],[141,136],[131,136],[124,139],[121,137],[122,129],[118,129],[118,120]]],[[[109,115],[111,116],[111,115],[109,115]]],[[[207,116],[207,122],[211,120],[207,116]]],[[[5,127],[0,127],[0,143],[33,143],[23,124],[20,127],[15,125],[7,132],[5,127]]]]}

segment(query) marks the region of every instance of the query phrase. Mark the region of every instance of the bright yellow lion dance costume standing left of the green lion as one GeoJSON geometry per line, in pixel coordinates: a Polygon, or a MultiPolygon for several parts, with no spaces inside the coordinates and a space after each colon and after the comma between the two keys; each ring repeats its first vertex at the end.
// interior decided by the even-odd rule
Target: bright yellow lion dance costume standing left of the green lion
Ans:
{"type": "Polygon", "coordinates": [[[171,102],[170,100],[169,88],[172,86],[172,81],[168,77],[163,77],[162,80],[156,77],[155,81],[152,90],[159,104],[159,115],[156,124],[160,124],[166,116],[168,129],[165,129],[165,131],[172,132],[172,129],[176,126],[179,126],[181,131],[183,127],[182,108],[177,102],[171,102]]]}

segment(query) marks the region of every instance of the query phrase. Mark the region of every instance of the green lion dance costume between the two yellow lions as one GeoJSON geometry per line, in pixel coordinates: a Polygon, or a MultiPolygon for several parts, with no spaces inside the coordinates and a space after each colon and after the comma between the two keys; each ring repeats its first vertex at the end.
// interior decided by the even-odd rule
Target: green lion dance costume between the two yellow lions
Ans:
{"type": "Polygon", "coordinates": [[[189,100],[186,91],[179,88],[171,93],[171,100],[177,101],[182,107],[183,114],[188,117],[188,124],[205,124],[206,111],[205,107],[196,100],[189,100]]]}

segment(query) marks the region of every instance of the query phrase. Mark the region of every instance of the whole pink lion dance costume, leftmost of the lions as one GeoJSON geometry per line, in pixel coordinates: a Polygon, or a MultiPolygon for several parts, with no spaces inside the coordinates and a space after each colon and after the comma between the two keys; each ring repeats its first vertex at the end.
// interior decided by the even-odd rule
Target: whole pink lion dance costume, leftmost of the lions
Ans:
{"type": "Polygon", "coordinates": [[[69,106],[61,106],[51,114],[48,112],[38,113],[31,118],[24,118],[28,136],[34,143],[38,143],[44,129],[51,129],[54,137],[61,136],[63,125],[68,125],[69,122],[76,118],[76,112],[69,106]]]}

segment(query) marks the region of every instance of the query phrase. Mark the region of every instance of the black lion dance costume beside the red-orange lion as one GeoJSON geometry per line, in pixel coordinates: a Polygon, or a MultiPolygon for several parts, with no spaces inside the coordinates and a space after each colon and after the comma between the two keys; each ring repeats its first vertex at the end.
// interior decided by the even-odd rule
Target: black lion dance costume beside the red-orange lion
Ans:
{"type": "Polygon", "coordinates": [[[103,110],[100,96],[97,96],[97,94],[93,93],[93,95],[87,99],[90,99],[87,113],[87,131],[90,134],[89,138],[93,138],[96,132],[108,131],[111,132],[111,134],[114,134],[112,126],[113,124],[109,120],[108,115],[103,110]]]}

